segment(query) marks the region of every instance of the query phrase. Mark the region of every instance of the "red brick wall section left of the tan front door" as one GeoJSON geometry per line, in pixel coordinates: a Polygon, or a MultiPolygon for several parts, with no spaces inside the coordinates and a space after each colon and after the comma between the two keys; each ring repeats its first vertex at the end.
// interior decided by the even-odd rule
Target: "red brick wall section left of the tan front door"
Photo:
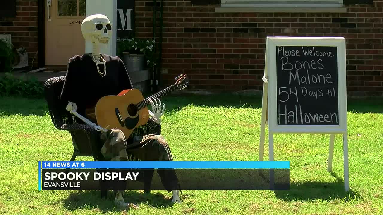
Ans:
{"type": "Polygon", "coordinates": [[[0,18],[0,34],[11,34],[16,48],[26,47],[31,65],[38,50],[38,0],[16,0],[16,17],[0,18]]]}

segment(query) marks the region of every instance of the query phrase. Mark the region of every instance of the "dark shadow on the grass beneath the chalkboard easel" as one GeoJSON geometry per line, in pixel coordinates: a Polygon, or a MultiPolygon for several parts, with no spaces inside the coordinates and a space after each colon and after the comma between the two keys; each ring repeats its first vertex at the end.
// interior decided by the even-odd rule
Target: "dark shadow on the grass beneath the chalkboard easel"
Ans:
{"type": "Polygon", "coordinates": [[[293,182],[290,184],[290,190],[288,191],[274,191],[275,196],[288,202],[314,199],[350,202],[362,198],[358,191],[352,189],[345,191],[343,179],[337,174],[331,173],[331,176],[336,178],[336,182],[293,182]]]}

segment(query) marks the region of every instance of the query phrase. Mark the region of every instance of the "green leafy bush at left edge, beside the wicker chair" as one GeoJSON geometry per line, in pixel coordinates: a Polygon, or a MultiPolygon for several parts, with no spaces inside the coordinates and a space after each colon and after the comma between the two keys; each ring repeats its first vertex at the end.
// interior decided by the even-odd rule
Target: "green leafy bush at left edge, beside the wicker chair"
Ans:
{"type": "Polygon", "coordinates": [[[0,77],[0,95],[41,98],[44,96],[44,85],[36,78],[18,78],[11,73],[0,77]]]}

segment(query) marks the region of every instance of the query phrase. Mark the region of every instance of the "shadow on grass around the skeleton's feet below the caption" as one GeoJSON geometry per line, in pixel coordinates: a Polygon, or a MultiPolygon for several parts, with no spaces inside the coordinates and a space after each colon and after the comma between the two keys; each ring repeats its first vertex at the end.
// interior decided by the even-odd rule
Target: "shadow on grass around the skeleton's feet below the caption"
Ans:
{"type": "MultiPolygon", "coordinates": [[[[148,204],[150,207],[166,208],[172,205],[172,199],[166,198],[163,194],[144,194],[137,191],[126,191],[124,196],[126,203],[138,205],[140,203],[148,204]]],[[[100,191],[77,191],[71,193],[66,199],[62,200],[67,210],[78,210],[86,207],[90,210],[102,210],[104,213],[109,211],[134,210],[129,207],[116,207],[114,205],[113,192],[108,192],[106,199],[101,199],[100,191]]]]}

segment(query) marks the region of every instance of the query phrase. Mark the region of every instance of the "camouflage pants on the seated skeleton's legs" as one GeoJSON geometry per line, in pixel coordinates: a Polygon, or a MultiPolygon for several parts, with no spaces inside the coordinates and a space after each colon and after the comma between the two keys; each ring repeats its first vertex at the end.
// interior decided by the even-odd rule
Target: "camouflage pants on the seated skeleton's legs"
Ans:
{"type": "MultiPolygon", "coordinates": [[[[126,139],[121,130],[108,130],[101,133],[104,143],[101,153],[112,161],[127,161],[133,155],[141,161],[173,161],[172,152],[161,135],[144,135],[126,139]]],[[[162,184],[168,192],[178,186],[178,178],[174,169],[157,169],[162,184]]]]}

